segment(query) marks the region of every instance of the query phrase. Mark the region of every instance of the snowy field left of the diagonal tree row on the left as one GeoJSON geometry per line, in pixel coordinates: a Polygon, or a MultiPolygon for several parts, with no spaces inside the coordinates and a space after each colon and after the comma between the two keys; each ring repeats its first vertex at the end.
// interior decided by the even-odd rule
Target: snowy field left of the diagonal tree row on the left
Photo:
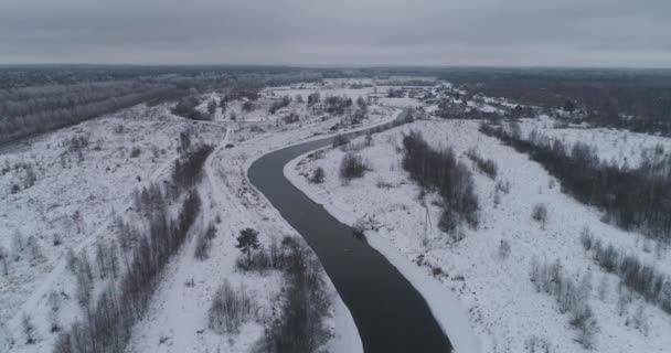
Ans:
{"type": "MultiPolygon", "coordinates": [[[[0,277],[0,336],[11,335],[23,312],[46,307],[52,290],[72,286],[61,261],[66,249],[79,250],[114,237],[113,214],[128,210],[135,188],[164,176],[177,157],[179,132],[185,129],[198,130],[192,122],[172,117],[166,106],[140,105],[43,135],[2,156],[0,164],[34,164],[36,182],[12,194],[10,184],[23,178],[21,171],[0,176],[0,194],[7,200],[0,205],[0,245],[11,249],[15,232],[25,238],[35,236],[41,257],[30,259],[24,250],[19,261],[10,263],[10,276],[0,277]],[[118,126],[123,131],[115,132],[118,126]],[[81,136],[88,137],[89,145],[79,158],[68,152],[64,141],[81,136]],[[132,147],[141,149],[138,157],[129,156],[132,147]],[[75,214],[81,221],[73,220],[75,214]],[[60,235],[60,245],[54,244],[54,234],[60,235]]],[[[211,128],[201,137],[216,133],[211,128]]],[[[67,310],[62,314],[64,320],[73,317],[67,310]]],[[[46,331],[41,315],[31,314],[38,329],[46,331]]]]}

